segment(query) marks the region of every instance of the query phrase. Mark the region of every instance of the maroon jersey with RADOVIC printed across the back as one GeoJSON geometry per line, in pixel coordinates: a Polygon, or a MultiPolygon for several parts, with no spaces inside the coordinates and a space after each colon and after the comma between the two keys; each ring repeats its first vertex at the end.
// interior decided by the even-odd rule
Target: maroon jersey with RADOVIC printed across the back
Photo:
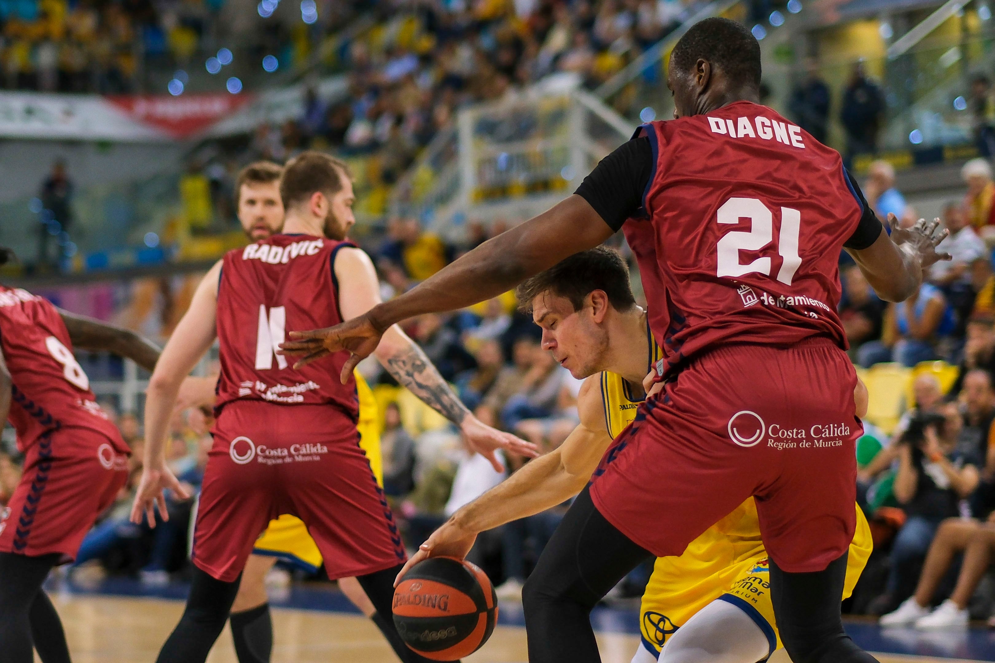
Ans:
{"type": "Polygon", "coordinates": [[[275,235],[225,254],[218,284],[221,376],[218,412],[236,400],[281,405],[331,405],[358,415],[356,384],[339,374],[348,352],[296,371],[294,358],[278,355],[290,330],[342,322],[338,311],[335,253],[348,242],[309,235],[275,235]]]}

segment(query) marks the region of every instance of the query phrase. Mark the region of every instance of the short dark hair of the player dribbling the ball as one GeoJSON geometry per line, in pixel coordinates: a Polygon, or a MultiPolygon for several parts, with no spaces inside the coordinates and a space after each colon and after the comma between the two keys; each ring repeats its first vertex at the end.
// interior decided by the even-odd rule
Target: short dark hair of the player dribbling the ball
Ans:
{"type": "Polygon", "coordinates": [[[629,266],[617,250],[607,247],[582,250],[560,260],[545,271],[525,280],[514,290],[523,311],[532,308],[532,300],[543,292],[566,297],[579,311],[584,297],[594,290],[604,290],[609,303],[625,311],[636,305],[629,282],[629,266]]]}

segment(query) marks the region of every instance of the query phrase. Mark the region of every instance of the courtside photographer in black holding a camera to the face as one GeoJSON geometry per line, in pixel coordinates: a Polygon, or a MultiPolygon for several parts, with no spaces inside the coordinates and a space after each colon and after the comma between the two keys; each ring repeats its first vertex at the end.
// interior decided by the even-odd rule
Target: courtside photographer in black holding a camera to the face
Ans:
{"type": "MultiPolygon", "coordinates": [[[[898,442],[894,491],[905,522],[892,545],[886,589],[892,605],[911,593],[916,577],[911,568],[925,555],[940,522],[957,516],[958,502],[978,485],[978,461],[956,450],[951,428],[943,415],[923,414],[898,442]]],[[[883,624],[888,621],[882,618],[883,624]]]]}

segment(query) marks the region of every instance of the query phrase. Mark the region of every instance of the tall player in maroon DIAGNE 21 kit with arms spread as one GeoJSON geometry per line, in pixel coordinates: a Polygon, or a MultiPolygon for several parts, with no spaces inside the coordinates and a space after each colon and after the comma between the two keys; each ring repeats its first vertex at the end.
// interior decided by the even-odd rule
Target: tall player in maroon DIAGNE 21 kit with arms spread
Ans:
{"type": "Polygon", "coordinates": [[[795,663],[873,661],[843,630],[856,512],[857,378],[837,316],[840,250],[900,301],[938,259],[937,223],[882,232],[840,155],[759,104],[760,48],[707,19],[675,47],[674,121],[645,124],[577,192],[432,278],[289,352],[354,353],[381,330],[495,296],[622,229],[640,262],[663,389],[616,438],[523,593],[532,663],[597,661],[588,618],[618,580],[757,498],[795,663]]]}

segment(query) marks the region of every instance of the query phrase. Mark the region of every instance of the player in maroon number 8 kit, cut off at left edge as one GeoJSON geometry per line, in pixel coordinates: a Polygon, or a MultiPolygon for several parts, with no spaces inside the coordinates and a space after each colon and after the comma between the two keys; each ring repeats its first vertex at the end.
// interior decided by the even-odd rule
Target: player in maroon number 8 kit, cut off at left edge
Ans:
{"type": "MultiPolygon", "coordinates": [[[[12,253],[0,249],[0,264],[12,253]]],[[[97,405],[73,347],[151,371],[159,349],[137,334],[0,286],[0,421],[17,431],[24,473],[0,511],[0,660],[69,663],[59,613],[42,590],[72,561],[127,479],[130,451],[97,405]]]]}

